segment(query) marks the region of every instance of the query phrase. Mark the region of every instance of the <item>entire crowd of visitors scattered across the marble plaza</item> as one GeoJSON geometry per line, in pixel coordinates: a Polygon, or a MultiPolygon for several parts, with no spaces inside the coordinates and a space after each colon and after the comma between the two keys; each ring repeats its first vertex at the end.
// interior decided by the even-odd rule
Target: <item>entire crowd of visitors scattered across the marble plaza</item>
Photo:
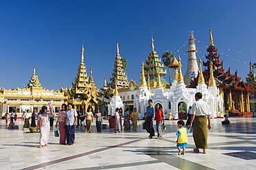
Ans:
{"type": "MultiPolygon", "coordinates": [[[[176,147],[179,150],[178,155],[185,154],[185,147],[187,147],[188,137],[187,133],[189,133],[190,129],[193,127],[193,139],[194,139],[194,152],[199,153],[199,149],[203,149],[203,153],[206,153],[206,149],[208,149],[208,130],[211,129],[210,123],[210,106],[202,100],[202,94],[195,94],[194,104],[188,109],[188,120],[187,122],[183,122],[183,120],[179,120],[177,122],[177,126],[179,129],[176,131],[177,140],[176,147]],[[208,122],[208,124],[207,124],[208,122]],[[184,126],[188,126],[188,129],[184,126]],[[181,151],[182,149],[182,151],[181,151]]],[[[53,129],[53,122],[55,119],[55,113],[53,113],[53,106],[49,103],[49,110],[47,112],[48,107],[42,106],[42,110],[39,111],[38,114],[33,111],[31,114],[31,124],[29,123],[28,110],[24,111],[22,115],[22,120],[24,120],[24,126],[22,131],[25,131],[25,128],[35,127],[40,132],[39,138],[39,148],[48,146],[48,135],[49,131],[53,129]],[[37,124],[35,123],[37,120],[37,124]]],[[[8,113],[4,115],[6,120],[6,124],[8,124],[8,113]]],[[[124,131],[137,131],[138,126],[137,122],[139,121],[137,108],[133,108],[132,112],[129,111],[129,108],[125,109],[125,113],[123,113],[122,108],[116,108],[116,113],[113,115],[114,117],[114,133],[122,133],[122,126],[124,126],[124,131]],[[122,124],[122,118],[124,118],[124,122],[122,124]]],[[[222,124],[230,124],[227,115],[224,115],[225,120],[223,120],[222,124]]],[[[86,133],[91,133],[91,124],[93,119],[95,118],[96,129],[98,133],[102,133],[102,113],[100,113],[100,109],[97,109],[93,114],[92,108],[88,108],[86,113],[84,110],[77,111],[73,108],[71,103],[62,104],[60,111],[57,113],[57,120],[55,124],[56,131],[60,132],[60,144],[71,145],[75,144],[75,128],[86,128],[86,133]]],[[[148,106],[146,108],[145,117],[143,117],[145,122],[145,129],[147,133],[149,133],[149,139],[152,139],[156,134],[154,131],[154,121],[156,121],[156,139],[163,138],[163,127],[165,129],[165,112],[163,108],[161,108],[161,104],[155,104],[153,106],[153,101],[148,100],[148,106]]],[[[10,113],[10,124],[8,129],[15,129],[15,122],[17,121],[17,113],[10,113]]]]}

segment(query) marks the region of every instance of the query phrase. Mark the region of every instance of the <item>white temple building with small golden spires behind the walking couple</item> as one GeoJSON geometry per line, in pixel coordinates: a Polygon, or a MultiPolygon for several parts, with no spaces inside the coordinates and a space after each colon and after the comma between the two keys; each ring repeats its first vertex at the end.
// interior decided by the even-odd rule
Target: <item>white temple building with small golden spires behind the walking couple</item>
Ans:
{"type": "MultiPolygon", "coordinates": [[[[194,35],[190,32],[190,38],[194,39],[194,35]]],[[[194,41],[194,40],[193,40],[194,41]]],[[[189,46],[188,48],[191,48],[189,46]]],[[[195,51],[193,51],[195,53],[195,51]]],[[[189,53],[191,57],[191,54],[189,53]]],[[[211,70],[210,82],[208,86],[205,84],[203,79],[201,59],[199,59],[199,67],[197,65],[195,55],[193,55],[193,68],[199,68],[199,82],[196,88],[187,88],[184,82],[183,74],[181,72],[181,58],[178,61],[174,58],[174,62],[179,67],[178,73],[177,69],[174,70],[174,81],[170,88],[165,88],[165,84],[161,84],[161,75],[158,72],[158,79],[156,82],[156,87],[150,86],[149,79],[145,79],[145,68],[142,64],[142,69],[140,73],[140,85],[136,85],[133,81],[129,83],[129,88],[127,90],[120,90],[119,95],[123,102],[133,102],[134,108],[137,108],[138,115],[140,119],[144,117],[146,107],[148,106],[148,100],[153,100],[153,106],[160,104],[163,111],[165,111],[165,119],[172,117],[174,120],[186,119],[189,106],[195,101],[194,95],[197,92],[203,94],[203,101],[210,105],[210,115],[212,118],[221,117],[223,113],[223,98],[219,95],[219,89],[217,88],[213,73],[211,70]],[[131,97],[135,96],[134,98],[131,97]],[[133,98],[133,99],[132,99],[133,98]],[[130,100],[132,99],[132,100],[130,100]]],[[[131,109],[130,109],[131,112],[131,109]]]]}

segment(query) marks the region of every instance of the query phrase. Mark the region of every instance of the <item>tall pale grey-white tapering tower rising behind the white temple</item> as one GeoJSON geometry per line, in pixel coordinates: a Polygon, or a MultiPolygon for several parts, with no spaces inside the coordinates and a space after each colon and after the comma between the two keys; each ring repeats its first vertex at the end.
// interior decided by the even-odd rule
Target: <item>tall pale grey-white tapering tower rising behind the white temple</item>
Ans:
{"type": "Polygon", "coordinates": [[[186,86],[190,85],[190,82],[194,77],[196,77],[199,73],[198,64],[196,61],[196,44],[194,39],[193,31],[190,31],[190,37],[188,38],[188,66],[184,76],[184,82],[186,86]]]}

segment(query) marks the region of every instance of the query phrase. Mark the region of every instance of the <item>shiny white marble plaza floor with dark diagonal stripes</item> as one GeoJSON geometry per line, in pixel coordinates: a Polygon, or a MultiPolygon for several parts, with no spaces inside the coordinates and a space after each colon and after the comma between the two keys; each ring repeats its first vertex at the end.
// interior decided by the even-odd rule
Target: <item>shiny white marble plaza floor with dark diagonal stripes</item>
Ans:
{"type": "MultiPolygon", "coordinates": [[[[176,149],[176,120],[167,120],[163,139],[148,139],[140,121],[138,131],[92,133],[76,129],[77,144],[64,146],[50,132],[48,147],[37,148],[39,133],[6,129],[0,120],[0,169],[256,169],[256,117],[230,117],[230,125],[212,120],[208,153],[194,153],[188,133],[185,155],[176,149]]],[[[107,120],[104,120],[107,124],[107,120]]],[[[154,125],[155,127],[155,125],[154,125]]]]}

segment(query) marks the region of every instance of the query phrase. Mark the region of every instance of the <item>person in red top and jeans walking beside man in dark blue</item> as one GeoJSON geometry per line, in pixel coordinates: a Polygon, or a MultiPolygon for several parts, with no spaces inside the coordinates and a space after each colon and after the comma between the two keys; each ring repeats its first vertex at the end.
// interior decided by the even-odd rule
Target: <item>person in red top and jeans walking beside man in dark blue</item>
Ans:
{"type": "Polygon", "coordinates": [[[156,104],[156,131],[157,131],[157,137],[156,139],[162,139],[162,124],[165,122],[165,113],[163,112],[163,109],[160,107],[160,104],[156,104]],[[163,121],[163,122],[162,122],[163,121]]]}

